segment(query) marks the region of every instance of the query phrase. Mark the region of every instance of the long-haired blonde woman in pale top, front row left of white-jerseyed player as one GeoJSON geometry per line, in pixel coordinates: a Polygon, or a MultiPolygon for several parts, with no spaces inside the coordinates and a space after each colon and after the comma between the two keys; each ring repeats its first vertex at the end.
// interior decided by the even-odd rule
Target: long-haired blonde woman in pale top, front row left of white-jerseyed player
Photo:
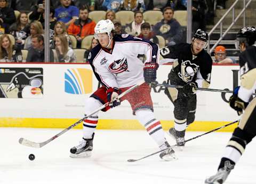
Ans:
{"type": "Polygon", "coordinates": [[[55,50],[57,52],[57,62],[76,62],[76,54],[68,46],[66,35],[60,34],[55,37],[55,50]]]}

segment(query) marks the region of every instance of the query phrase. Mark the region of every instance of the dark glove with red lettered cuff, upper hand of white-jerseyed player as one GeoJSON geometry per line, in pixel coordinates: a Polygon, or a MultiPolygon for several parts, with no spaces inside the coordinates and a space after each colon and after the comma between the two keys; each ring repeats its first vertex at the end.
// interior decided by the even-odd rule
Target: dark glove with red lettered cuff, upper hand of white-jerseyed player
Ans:
{"type": "Polygon", "coordinates": [[[158,68],[158,63],[156,62],[146,62],[143,68],[145,82],[150,84],[156,81],[156,70],[158,68]]]}

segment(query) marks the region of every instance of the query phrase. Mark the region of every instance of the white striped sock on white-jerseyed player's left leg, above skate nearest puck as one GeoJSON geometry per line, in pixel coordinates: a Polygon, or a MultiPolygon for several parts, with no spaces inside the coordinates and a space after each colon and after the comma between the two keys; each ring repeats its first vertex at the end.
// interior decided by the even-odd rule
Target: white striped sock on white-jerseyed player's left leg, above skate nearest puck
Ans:
{"type": "MultiPolygon", "coordinates": [[[[90,97],[85,102],[85,114],[90,114],[92,110],[97,109],[102,106],[102,103],[90,97]]],[[[85,119],[83,122],[83,138],[84,139],[91,139],[92,134],[95,131],[98,124],[98,113],[90,116],[89,118],[85,119]]]]}

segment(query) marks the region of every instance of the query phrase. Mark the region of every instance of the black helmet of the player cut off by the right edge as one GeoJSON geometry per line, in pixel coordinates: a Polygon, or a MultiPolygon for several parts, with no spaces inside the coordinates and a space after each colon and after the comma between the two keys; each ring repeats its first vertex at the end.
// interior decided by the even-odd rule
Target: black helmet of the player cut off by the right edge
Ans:
{"type": "Polygon", "coordinates": [[[239,49],[241,43],[244,43],[245,46],[253,45],[256,41],[256,29],[253,26],[243,27],[236,34],[235,46],[236,49],[239,49]]]}

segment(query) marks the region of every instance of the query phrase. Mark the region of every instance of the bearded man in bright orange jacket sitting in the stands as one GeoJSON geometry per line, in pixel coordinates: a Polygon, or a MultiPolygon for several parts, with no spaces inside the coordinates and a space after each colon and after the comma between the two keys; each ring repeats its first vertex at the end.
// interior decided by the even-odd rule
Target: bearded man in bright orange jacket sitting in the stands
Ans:
{"type": "Polygon", "coordinates": [[[81,47],[82,39],[87,35],[94,34],[96,23],[88,18],[89,10],[86,6],[81,6],[79,9],[79,19],[71,23],[68,27],[68,34],[75,35],[77,39],[77,47],[81,47]]]}

